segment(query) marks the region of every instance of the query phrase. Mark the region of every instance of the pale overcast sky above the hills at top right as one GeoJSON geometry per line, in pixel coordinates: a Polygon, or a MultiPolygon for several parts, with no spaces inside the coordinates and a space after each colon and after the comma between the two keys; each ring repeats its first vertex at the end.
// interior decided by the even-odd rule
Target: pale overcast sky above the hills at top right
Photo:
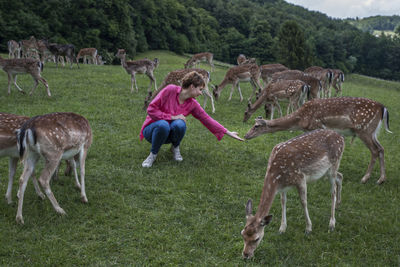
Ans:
{"type": "Polygon", "coordinates": [[[334,18],[400,15],[400,0],[286,0],[334,18]]]}

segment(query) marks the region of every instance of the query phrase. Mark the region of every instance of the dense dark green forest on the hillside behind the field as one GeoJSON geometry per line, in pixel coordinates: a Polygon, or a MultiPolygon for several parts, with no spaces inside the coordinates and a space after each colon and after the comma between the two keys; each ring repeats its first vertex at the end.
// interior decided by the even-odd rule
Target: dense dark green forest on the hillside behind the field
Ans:
{"type": "Polygon", "coordinates": [[[375,37],[283,0],[0,1],[0,50],[31,35],[96,47],[109,63],[117,62],[117,48],[131,57],[153,49],[210,51],[230,63],[243,53],[260,64],[320,65],[400,80],[399,37],[375,37]]]}

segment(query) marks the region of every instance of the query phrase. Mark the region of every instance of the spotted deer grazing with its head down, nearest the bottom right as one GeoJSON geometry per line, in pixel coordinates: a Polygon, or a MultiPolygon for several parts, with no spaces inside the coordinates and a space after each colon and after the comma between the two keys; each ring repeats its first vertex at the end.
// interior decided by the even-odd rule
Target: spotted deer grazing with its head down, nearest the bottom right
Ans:
{"type": "Polygon", "coordinates": [[[338,172],[343,155],[344,138],[333,130],[318,129],[277,144],[270,154],[260,203],[255,215],[253,203],[246,204],[246,225],[241,231],[244,241],[242,256],[253,257],[254,251],[264,237],[264,227],[272,220],[269,214],[275,195],[281,195],[282,219],[280,233],[285,233],[286,192],[296,187],[306,218],[306,233],[312,231],[307,208],[307,183],[327,176],[331,184],[331,217],[329,230],[335,229],[335,209],[341,202],[343,175],[338,172]]]}

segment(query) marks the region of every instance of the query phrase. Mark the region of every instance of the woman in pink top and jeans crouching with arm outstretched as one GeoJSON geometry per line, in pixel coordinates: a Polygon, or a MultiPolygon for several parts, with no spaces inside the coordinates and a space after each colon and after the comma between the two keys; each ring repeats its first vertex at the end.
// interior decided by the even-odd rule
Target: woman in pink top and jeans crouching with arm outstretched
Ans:
{"type": "Polygon", "coordinates": [[[243,141],[236,132],[230,132],[211,118],[195,98],[202,94],[203,77],[193,71],[182,79],[182,87],[166,86],[147,108],[147,117],[140,131],[140,140],[151,143],[150,155],[143,161],[143,167],[151,167],[163,144],[172,143],[173,158],[182,161],[179,144],[186,132],[186,116],[193,115],[213,133],[218,140],[227,134],[243,141]]]}

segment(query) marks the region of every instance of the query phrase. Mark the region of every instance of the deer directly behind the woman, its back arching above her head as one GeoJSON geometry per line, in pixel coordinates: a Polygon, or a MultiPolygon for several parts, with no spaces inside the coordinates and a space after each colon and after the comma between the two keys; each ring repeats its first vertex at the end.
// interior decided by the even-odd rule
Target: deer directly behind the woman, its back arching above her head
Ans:
{"type": "Polygon", "coordinates": [[[214,107],[214,99],[212,97],[212,94],[210,93],[209,89],[208,89],[208,83],[210,81],[210,73],[206,70],[203,69],[180,69],[180,70],[175,70],[175,71],[171,71],[167,74],[167,76],[165,76],[164,81],[162,82],[162,84],[160,85],[160,87],[158,87],[157,91],[155,92],[149,92],[145,101],[144,101],[144,106],[143,109],[146,110],[147,107],[149,106],[150,102],[158,95],[158,93],[164,89],[164,87],[166,87],[168,84],[175,84],[175,85],[181,85],[182,79],[183,77],[188,74],[189,72],[192,71],[196,71],[198,72],[201,76],[203,76],[204,78],[204,83],[205,83],[205,87],[203,92],[203,96],[204,96],[204,102],[203,102],[203,108],[206,108],[206,104],[207,104],[207,98],[210,98],[211,100],[211,107],[212,107],[212,113],[215,113],[215,107],[214,107]]]}

